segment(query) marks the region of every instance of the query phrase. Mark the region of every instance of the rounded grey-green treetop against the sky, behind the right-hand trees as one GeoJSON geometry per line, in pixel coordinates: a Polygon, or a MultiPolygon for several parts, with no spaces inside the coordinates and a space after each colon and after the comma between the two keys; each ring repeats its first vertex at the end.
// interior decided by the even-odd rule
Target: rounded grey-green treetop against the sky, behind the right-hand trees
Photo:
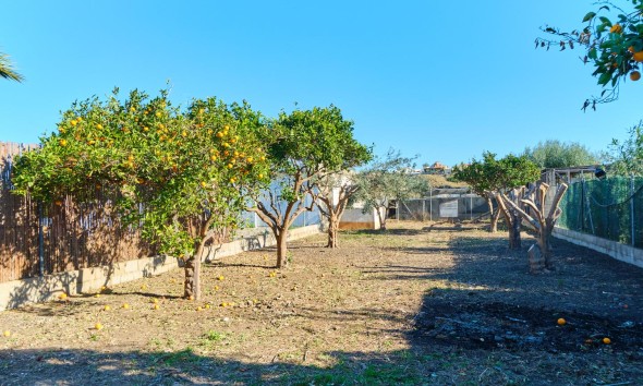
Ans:
{"type": "Polygon", "coordinates": [[[541,168],[567,168],[598,162],[598,157],[585,146],[577,142],[562,143],[558,140],[538,142],[533,148],[526,147],[523,155],[541,168]]]}

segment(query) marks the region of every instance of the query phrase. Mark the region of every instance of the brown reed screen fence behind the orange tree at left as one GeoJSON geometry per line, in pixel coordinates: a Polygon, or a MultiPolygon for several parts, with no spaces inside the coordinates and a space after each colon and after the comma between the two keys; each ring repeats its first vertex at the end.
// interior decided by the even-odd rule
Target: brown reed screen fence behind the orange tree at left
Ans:
{"type": "MultiPolygon", "coordinates": [[[[40,274],[37,203],[5,189],[10,157],[13,161],[16,155],[37,147],[0,142],[0,282],[40,274]]],[[[45,274],[153,254],[153,248],[142,242],[139,232],[123,232],[118,221],[98,215],[98,209],[106,205],[100,192],[97,192],[97,205],[77,207],[70,197],[64,197],[63,203],[43,207],[47,214],[43,240],[45,274]]]]}

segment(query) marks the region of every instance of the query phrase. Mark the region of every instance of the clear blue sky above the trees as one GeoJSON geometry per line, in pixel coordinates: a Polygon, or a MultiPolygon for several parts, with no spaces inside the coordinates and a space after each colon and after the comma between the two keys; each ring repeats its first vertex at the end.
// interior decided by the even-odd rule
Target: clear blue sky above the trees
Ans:
{"type": "Polygon", "coordinates": [[[521,153],[538,141],[592,150],[642,117],[641,84],[582,112],[600,89],[580,50],[534,49],[545,24],[581,25],[593,1],[10,1],[0,51],[0,141],[38,142],[76,99],[114,86],[281,109],[335,104],[355,136],[418,164],[521,153]]]}

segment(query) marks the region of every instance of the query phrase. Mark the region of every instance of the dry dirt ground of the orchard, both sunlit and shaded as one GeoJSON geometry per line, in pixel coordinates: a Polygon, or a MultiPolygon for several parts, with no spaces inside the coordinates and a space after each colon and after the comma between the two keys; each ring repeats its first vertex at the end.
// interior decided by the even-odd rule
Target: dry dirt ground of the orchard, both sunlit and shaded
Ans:
{"type": "Polygon", "coordinates": [[[0,385],[643,385],[643,269],[556,240],[533,276],[524,233],[390,228],[226,257],[198,302],[174,270],[1,312],[0,385]]]}

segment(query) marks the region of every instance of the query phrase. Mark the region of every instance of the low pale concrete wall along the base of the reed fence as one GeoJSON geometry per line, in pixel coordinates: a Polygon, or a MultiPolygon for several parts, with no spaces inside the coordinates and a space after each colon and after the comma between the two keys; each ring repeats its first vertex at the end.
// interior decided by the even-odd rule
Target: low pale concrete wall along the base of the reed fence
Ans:
{"type": "MultiPolygon", "coordinates": [[[[291,229],[288,240],[316,234],[320,230],[318,225],[291,229]]],[[[275,245],[272,234],[262,233],[260,237],[244,238],[219,245],[213,249],[204,260],[217,260],[270,245],[275,245]]],[[[160,255],[116,263],[110,266],[0,282],[0,311],[54,300],[63,292],[70,295],[92,292],[102,286],[113,286],[143,277],[151,277],[178,267],[179,263],[175,257],[160,255]]]]}

